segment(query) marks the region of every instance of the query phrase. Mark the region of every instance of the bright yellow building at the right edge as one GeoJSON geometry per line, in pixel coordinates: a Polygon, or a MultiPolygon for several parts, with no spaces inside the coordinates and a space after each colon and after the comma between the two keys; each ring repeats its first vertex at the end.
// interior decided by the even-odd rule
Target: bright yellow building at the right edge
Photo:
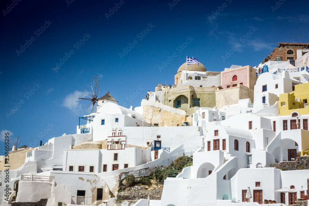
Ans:
{"type": "Polygon", "coordinates": [[[297,84],[293,92],[280,94],[278,102],[280,116],[290,115],[294,111],[300,115],[309,114],[307,99],[309,99],[309,83],[297,84]]]}

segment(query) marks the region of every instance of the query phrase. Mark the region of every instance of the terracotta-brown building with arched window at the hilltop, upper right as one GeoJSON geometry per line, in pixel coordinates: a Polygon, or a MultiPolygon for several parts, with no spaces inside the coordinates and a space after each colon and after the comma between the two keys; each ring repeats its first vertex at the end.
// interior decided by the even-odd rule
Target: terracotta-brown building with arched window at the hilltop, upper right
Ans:
{"type": "Polygon", "coordinates": [[[308,43],[282,43],[279,42],[273,52],[264,59],[263,63],[267,61],[288,61],[289,59],[297,59],[298,49],[309,49],[308,43]]]}

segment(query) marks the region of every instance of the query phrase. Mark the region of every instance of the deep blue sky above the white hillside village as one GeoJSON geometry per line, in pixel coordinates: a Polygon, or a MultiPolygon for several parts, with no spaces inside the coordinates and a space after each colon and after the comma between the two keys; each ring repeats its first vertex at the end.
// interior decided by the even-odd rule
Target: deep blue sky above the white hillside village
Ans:
{"type": "Polygon", "coordinates": [[[19,136],[19,146],[76,133],[78,117],[91,111],[76,98],[92,93],[97,75],[99,97],[109,91],[120,105],[138,107],[148,90],[174,83],[186,56],[222,71],[257,66],[278,42],[299,35],[308,43],[308,4],[1,1],[0,154],[5,131],[19,136]]]}

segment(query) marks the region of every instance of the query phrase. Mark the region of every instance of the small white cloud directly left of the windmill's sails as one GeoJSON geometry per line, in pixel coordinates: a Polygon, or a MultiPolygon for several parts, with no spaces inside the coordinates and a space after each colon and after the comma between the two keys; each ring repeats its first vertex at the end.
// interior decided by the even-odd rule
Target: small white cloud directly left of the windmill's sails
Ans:
{"type": "MultiPolygon", "coordinates": [[[[61,106],[67,107],[74,113],[79,113],[83,111],[83,105],[81,104],[80,100],[78,98],[87,98],[89,95],[88,91],[78,91],[75,90],[74,92],[66,95],[66,98],[63,100],[63,103],[61,106]]],[[[88,102],[89,104],[90,102],[88,102]]],[[[87,105],[88,106],[88,105],[87,105]]],[[[85,109],[85,108],[84,108],[85,109]]],[[[87,107],[86,107],[87,109],[87,107]]]]}

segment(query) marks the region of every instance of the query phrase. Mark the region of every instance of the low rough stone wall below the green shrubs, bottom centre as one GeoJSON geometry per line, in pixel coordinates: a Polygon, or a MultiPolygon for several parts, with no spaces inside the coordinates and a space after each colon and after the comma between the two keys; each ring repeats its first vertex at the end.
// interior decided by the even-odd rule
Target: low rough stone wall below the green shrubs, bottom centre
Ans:
{"type": "Polygon", "coordinates": [[[147,199],[147,197],[149,196],[150,200],[161,200],[162,191],[163,189],[119,192],[117,197],[121,197],[123,200],[138,200],[147,199]]]}

